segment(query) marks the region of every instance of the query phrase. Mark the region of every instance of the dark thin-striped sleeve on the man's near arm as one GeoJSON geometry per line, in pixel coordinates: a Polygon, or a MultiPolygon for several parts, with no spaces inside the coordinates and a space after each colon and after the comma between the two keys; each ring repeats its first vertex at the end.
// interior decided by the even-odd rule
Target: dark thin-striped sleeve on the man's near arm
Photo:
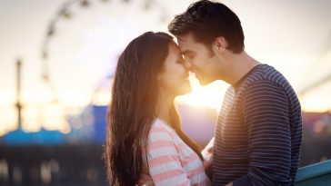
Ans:
{"type": "Polygon", "coordinates": [[[288,185],[291,132],[286,91],[276,83],[257,82],[242,97],[248,135],[248,171],[233,185],[288,185]]]}

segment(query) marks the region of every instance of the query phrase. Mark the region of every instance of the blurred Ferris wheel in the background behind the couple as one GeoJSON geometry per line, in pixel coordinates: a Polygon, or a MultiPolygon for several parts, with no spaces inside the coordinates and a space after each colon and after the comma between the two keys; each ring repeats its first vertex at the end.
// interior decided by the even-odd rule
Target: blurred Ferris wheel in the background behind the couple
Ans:
{"type": "Polygon", "coordinates": [[[166,29],[166,8],[153,0],[71,0],[50,20],[42,44],[42,79],[52,103],[79,113],[106,104],[117,57],[146,31],[166,29]]]}

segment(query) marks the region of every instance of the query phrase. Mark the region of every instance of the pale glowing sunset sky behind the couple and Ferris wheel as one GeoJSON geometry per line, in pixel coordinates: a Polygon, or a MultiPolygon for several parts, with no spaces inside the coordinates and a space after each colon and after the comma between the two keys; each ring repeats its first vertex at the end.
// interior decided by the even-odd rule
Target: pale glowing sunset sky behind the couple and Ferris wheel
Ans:
{"type": "MultiPolygon", "coordinates": [[[[59,19],[55,24],[55,35],[47,47],[49,58],[42,61],[47,26],[65,2],[68,1],[0,0],[0,128],[6,131],[15,128],[17,59],[23,62],[21,98],[30,108],[25,111],[26,121],[40,122],[58,113],[61,109],[54,103],[48,113],[38,116],[54,97],[65,105],[66,110],[61,110],[65,113],[77,113],[75,108],[91,102],[105,104],[109,98],[109,81],[105,77],[115,71],[116,58],[125,45],[146,31],[166,32],[174,15],[194,1],[149,0],[149,8],[145,0],[92,0],[86,8],[73,5],[71,19],[59,19]],[[52,89],[42,80],[43,64],[48,66],[52,89]]],[[[246,35],[246,52],[283,73],[305,111],[331,110],[331,79],[314,86],[331,75],[331,1],[220,2],[239,16],[246,35]]],[[[219,108],[226,83],[207,87],[199,86],[194,79],[192,83],[194,93],[179,98],[179,103],[219,108]]]]}

